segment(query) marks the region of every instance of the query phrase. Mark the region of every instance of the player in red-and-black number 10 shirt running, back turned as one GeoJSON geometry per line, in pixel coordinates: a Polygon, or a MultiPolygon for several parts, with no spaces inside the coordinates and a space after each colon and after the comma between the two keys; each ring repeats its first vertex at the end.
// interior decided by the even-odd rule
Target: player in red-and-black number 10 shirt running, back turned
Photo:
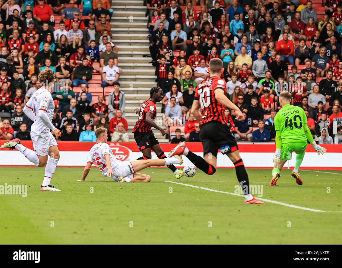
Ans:
{"type": "Polygon", "coordinates": [[[206,77],[196,88],[191,107],[191,113],[201,125],[199,136],[203,145],[204,159],[189,151],[185,142],[180,142],[172,149],[169,157],[183,154],[200,170],[208,175],[213,175],[216,171],[217,152],[220,149],[221,153],[226,154],[235,165],[237,179],[246,197],[245,203],[264,204],[250,193],[244,162],[242,162],[229,122],[226,122],[224,116],[226,107],[235,111],[237,119],[242,118],[242,112],[225,95],[226,82],[220,78],[223,72],[222,66],[222,60],[218,58],[210,60],[208,71],[211,76],[206,77]],[[201,109],[201,113],[199,109],[201,109]]]}

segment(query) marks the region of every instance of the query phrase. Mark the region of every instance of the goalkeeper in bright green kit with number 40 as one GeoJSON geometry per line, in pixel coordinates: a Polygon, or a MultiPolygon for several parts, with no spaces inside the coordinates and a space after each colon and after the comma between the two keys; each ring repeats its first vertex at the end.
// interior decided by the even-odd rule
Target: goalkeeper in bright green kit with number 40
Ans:
{"type": "Polygon", "coordinates": [[[307,126],[307,118],[302,108],[290,104],[291,92],[283,91],[279,94],[279,103],[281,110],[274,117],[274,128],[276,131],[276,154],[273,157],[275,163],[272,169],[271,186],[276,186],[280,177],[280,170],[286,161],[292,158],[294,151],[296,163],[291,176],[295,178],[299,185],[303,181],[299,177],[299,167],[303,161],[307,140],[319,154],[324,154],[327,150],[316,144],[312,138],[309,127],[307,126]]]}

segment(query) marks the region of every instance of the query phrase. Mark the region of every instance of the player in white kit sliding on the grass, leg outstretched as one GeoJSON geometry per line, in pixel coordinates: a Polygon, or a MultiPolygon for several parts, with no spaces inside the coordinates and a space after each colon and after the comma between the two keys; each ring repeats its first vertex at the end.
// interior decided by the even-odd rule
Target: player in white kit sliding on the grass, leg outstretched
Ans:
{"type": "Polygon", "coordinates": [[[151,177],[146,174],[136,173],[144,168],[155,166],[169,166],[172,164],[182,164],[182,157],[163,158],[163,159],[147,159],[134,161],[119,161],[115,158],[113,152],[107,144],[107,129],[97,128],[95,131],[97,138],[96,144],[90,149],[88,162],[83,170],[82,179],[86,180],[91,165],[96,163],[100,168],[103,176],[111,177],[118,182],[150,182],[151,177]]]}

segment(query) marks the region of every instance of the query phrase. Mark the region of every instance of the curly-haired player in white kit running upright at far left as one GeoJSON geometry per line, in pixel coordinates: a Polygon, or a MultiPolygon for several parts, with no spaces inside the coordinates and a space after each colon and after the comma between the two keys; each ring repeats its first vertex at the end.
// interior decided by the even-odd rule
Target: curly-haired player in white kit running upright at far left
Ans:
{"type": "Polygon", "coordinates": [[[47,87],[38,89],[23,109],[23,112],[27,117],[34,122],[31,127],[33,151],[23,146],[19,139],[4,143],[1,146],[1,149],[17,149],[35,166],[44,167],[46,165],[44,180],[40,191],[61,191],[50,185],[52,175],[57,167],[58,159],[60,159],[56,139],[61,136],[61,131],[55,128],[51,123],[55,111],[55,104],[51,96],[55,75],[51,69],[47,68],[39,73],[38,80],[42,84],[48,82],[47,87]],[[52,135],[55,135],[56,139],[52,135]],[[50,155],[49,159],[48,155],[50,155]]]}

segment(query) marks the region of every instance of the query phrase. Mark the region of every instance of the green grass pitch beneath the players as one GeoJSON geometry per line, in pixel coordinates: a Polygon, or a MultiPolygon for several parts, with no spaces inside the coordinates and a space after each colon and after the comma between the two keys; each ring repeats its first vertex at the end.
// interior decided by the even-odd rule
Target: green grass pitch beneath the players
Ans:
{"type": "MultiPolygon", "coordinates": [[[[85,182],[78,182],[82,170],[57,168],[52,184],[62,191],[41,192],[43,169],[2,167],[0,184],[27,184],[28,194],[26,198],[0,195],[1,244],[342,243],[342,213],[267,202],[246,205],[243,197],[163,182],[234,192],[238,184],[234,169],[218,169],[214,176],[198,170],[193,178],[176,180],[166,168],[148,168],[143,173],[152,176],[150,183],[116,183],[102,177],[97,168],[91,169],[85,182]]],[[[342,211],[341,171],[331,171],[341,174],[335,175],[303,170],[303,186],[295,183],[290,172],[283,170],[278,186],[271,188],[270,169],[248,170],[250,183],[263,186],[264,199],[342,211]]]]}

